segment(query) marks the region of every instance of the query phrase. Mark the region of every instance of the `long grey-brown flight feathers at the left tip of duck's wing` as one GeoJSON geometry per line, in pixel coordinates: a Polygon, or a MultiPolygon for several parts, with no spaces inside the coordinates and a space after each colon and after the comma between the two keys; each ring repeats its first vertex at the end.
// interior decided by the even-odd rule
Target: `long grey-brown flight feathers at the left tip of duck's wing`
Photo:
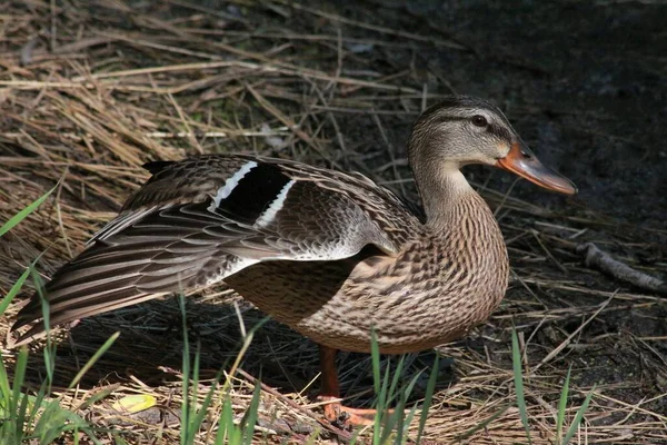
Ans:
{"type": "MultiPolygon", "coordinates": [[[[51,281],[18,314],[12,330],[32,325],[20,336],[24,344],[44,334],[42,299],[49,324],[56,326],[196,287],[211,265],[213,250],[175,255],[161,249],[98,243],[59,269],[51,281]]],[[[183,248],[182,250],[186,250],[183,248]]],[[[222,258],[223,259],[223,258],[222,258]]]]}

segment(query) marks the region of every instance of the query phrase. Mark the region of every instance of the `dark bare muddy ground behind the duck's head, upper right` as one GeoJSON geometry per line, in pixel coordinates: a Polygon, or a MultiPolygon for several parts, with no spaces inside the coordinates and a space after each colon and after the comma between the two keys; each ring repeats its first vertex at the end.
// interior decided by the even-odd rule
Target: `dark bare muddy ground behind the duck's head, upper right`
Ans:
{"type": "MultiPolygon", "coordinates": [[[[466,46],[470,51],[374,48],[364,57],[396,69],[410,60],[430,92],[496,101],[540,159],[577,184],[577,205],[666,228],[666,3],[422,0],[329,8],[466,46]]],[[[559,202],[526,184],[517,191],[559,202]]]]}

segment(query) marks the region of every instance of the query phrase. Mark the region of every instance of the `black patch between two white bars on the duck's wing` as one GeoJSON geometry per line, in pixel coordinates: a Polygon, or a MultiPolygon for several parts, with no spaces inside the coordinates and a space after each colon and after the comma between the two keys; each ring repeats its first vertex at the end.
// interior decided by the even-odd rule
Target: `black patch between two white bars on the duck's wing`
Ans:
{"type": "Polygon", "coordinates": [[[240,222],[253,224],[290,180],[276,166],[259,164],[239,180],[216,211],[240,222]]]}

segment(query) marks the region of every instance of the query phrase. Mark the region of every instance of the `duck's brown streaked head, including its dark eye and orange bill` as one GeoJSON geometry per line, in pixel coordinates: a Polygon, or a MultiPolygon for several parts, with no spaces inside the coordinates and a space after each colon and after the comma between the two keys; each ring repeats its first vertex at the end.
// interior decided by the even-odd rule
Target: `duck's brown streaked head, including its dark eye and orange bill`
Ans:
{"type": "Polygon", "coordinates": [[[446,175],[468,164],[486,164],[552,191],[577,192],[569,179],[537,159],[498,107],[469,96],[450,96],[419,116],[410,136],[409,157],[417,176],[434,170],[446,175]]]}

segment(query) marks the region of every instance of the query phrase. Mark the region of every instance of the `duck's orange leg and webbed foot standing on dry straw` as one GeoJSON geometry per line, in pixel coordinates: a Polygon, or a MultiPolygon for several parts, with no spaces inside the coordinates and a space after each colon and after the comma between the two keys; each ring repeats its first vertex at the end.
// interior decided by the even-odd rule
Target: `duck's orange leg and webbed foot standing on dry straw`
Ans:
{"type": "MultiPolygon", "coordinates": [[[[336,400],[340,398],[340,387],[338,385],[338,373],[336,370],[337,349],[319,345],[320,367],[322,370],[322,383],[320,389],[320,400],[336,400]]],[[[347,425],[372,425],[376,409],[359,409],[344,406],[340,402],[331,402],[325,405],[325,417],[331,423],[342,423],[347,425]]]]}

